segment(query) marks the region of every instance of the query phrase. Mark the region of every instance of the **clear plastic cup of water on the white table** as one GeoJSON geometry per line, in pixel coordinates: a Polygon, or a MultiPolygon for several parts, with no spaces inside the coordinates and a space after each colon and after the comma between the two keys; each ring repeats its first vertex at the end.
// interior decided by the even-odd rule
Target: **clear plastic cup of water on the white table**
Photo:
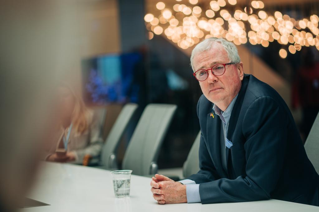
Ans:
{"type": "Polygon", "coordinates": [[[130,196],[131,173],[132,170],[117,170],[111,172],[115,197],[130,196]]]}

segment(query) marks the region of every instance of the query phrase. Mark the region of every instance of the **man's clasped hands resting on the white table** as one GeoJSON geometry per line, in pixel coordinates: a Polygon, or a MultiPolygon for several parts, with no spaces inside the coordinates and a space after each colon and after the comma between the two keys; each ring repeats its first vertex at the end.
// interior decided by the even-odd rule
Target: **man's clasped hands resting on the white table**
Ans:
{"type": "Polygon", "coordinates": [[[155,174],[155,177],[152,177],[151,192],[159,204],[187,202],[186,186],[161,174],[155,174]]]}

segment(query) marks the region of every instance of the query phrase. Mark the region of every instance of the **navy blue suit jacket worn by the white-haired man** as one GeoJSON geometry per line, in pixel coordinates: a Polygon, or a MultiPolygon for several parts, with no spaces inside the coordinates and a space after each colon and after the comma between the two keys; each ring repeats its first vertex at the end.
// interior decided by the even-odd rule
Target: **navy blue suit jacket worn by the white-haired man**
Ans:
{"type": "Polygon", "coordinates": [[[227,171],[220,153],[220,118],[202,95],[197,104],[201,128],[200,171],[188,179],[199,185],[205,203],[269,198],[319,205],[319,176],[309,161],[291,112],[281,96],[245,74],[229,121],[227,171]]]}

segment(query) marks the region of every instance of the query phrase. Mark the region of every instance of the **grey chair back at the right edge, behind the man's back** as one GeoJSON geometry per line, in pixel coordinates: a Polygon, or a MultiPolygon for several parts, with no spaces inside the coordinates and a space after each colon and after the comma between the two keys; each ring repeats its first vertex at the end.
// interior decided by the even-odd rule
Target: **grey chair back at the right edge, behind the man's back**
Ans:
{"type": "Polygon", "coordinates": [[[305,143],[305,150],[316,172],[319,174],[319,113],[311,127],[305,143]]]}

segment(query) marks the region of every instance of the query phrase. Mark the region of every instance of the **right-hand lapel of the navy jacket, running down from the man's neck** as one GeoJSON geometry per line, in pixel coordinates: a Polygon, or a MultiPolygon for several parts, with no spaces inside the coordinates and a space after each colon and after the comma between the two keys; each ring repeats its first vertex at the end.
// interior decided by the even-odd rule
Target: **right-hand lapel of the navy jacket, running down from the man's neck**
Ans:
{"type": "MultiPolygon", "coordinates": [[[[229,124],[228,124],[228,131],[227,131],[227,139],[231,142],[233,142],[233,134],[234,134],[234,130],[236,128],[238,117],[239,117],[239,114],[241,111],[241,105],[242,105],[242,102],[244,101],[248,82],[249,82],[249,80],[246,78],[246,75],[245,75],[244,79],[242,80],[241,89],[239,90],[236,102],[235,102],[233,110],[232,110],[232,114],[230,115],[229,124]]],[[[230,149],[228,149],[226,147],[226,166],[227,166],[227,169],[228,169],[229,152],[230,152],[230,149]]]]}

